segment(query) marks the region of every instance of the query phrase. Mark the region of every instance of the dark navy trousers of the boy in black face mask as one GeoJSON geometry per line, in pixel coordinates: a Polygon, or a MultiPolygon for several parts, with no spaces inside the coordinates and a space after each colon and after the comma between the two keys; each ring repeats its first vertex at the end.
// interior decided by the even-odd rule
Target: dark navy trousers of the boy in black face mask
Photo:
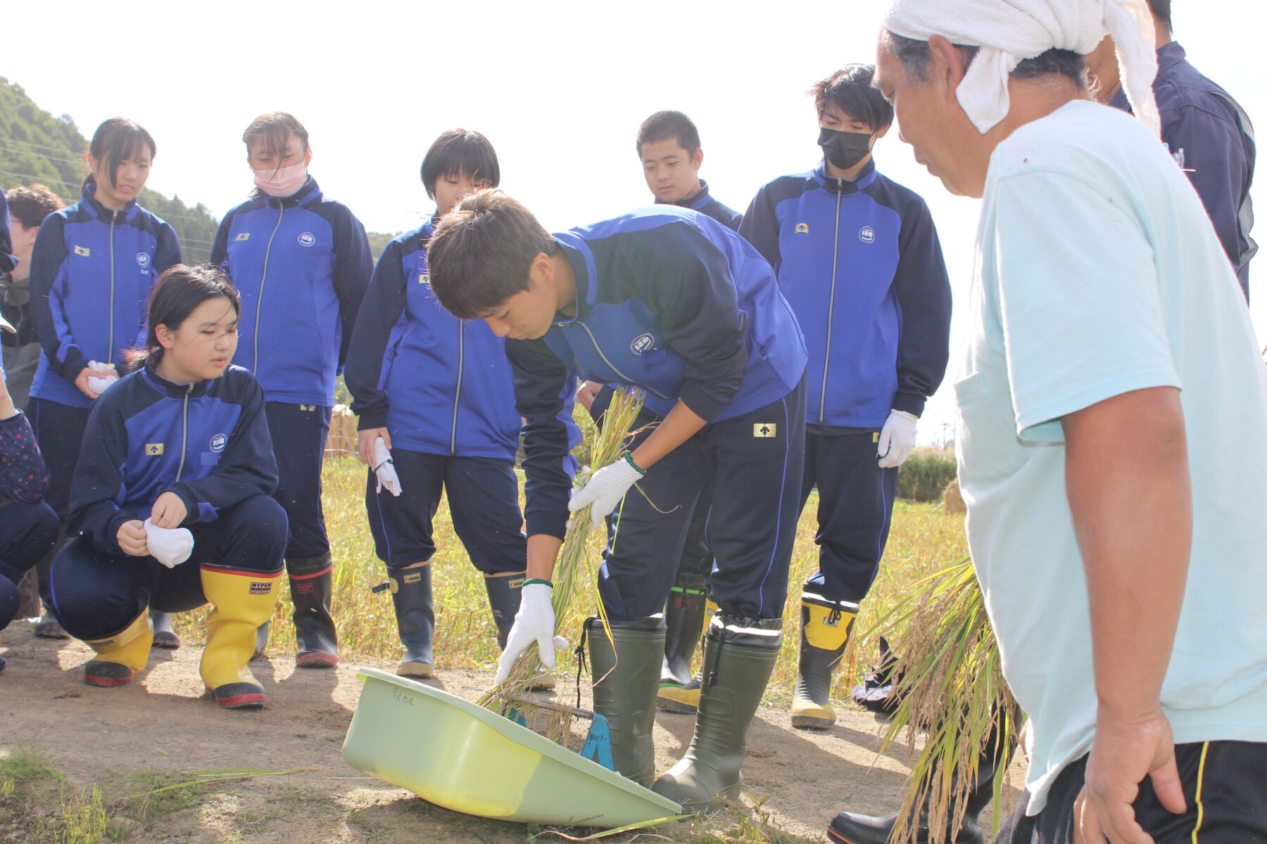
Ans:
{"type": "MultiPolygon", "coordinates": [[[[849,429],[840,435],[806,433],[801,510],[818,487],[818,572],[806,591],[829,601],[867,597],[888,543],[897,497],[897,469],[875,462],[879,431],[849,429]]],[[[801,510],[797,510],[799,514],[801,510]]]]}

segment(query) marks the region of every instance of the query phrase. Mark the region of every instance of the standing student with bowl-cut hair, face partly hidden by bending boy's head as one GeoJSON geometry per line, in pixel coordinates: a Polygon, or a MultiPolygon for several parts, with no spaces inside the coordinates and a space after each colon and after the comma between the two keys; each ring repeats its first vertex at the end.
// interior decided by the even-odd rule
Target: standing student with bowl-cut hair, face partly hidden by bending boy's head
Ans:
{"type": "Polygon", "coordinates": [[[422,183],[436,214],[383,251],[347,353],[357,450],[370,467],[365,509],[375,550],[388,566],[405,649],[397,673],[407,677],[433,674],[431,520],[442,491],[457,538],[484,574],[503,647],[519,609],[527,552],[514,476],[519,414],[511,364],[500,338],[441,307],[427,278],[436,220],[462,196],[499,181],[488,138],[465,129],[436,138],[422,159],[422,183]],[[375,476],[379,439],[390,449],[398,495],[375,476]]]}

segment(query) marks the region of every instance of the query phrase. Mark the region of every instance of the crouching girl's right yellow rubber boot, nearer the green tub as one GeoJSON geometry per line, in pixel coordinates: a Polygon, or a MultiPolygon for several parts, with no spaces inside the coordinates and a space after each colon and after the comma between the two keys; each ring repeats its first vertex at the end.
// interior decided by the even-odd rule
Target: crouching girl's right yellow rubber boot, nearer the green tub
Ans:
{"type": "Polygon", "coordinates": [[[255,654],[256,630],[277,606],[277,580],[271,573],[203,568],[203,595],[214,605],[207,621],[203,682],[224,709],[260,709],[264,687],[247,668],[255,654]]]}

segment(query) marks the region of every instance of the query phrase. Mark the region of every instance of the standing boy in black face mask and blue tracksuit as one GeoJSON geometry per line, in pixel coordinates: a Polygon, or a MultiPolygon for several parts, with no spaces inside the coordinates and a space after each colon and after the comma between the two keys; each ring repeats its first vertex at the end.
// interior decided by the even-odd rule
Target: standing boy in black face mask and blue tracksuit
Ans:
{"type": "Polygon", "coordinates": [[[831,672],[949,356],[950,282],[933,218],[872,161],[893,121],[873,73],[851,65],[813,86],[822,163],[761,187],[739,229],[774,267],[810,352],[801,506],[817,486],[818,571],[801,593],[798,728],[835,723],[831,672]]]}

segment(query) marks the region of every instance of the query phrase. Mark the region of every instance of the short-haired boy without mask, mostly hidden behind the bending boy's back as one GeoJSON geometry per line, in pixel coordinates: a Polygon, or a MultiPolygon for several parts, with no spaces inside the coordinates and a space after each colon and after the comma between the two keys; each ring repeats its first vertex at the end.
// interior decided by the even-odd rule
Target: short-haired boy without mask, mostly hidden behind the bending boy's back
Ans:
{"type": "MultiPolygon", "coordinates": [[[[637,154],[642,162],[646,186],[656,204],[689,208],[707,214],[727,229],[739,230],[744,215],[722,205],[708,192],[708,182],[699,178],[704,151],[699,143],[699,130],[685,114],[656,111],[644,120],[637,132],[637,154]]],[[[587,381],[576,392],[578,401],[589,402],[587,409],[595,421],[601,421],[611,396],[609,386],[593,381],[587,381]]],[[[669,712],[694,714],[699,704],[699,678],[691,676],[691,659],[701,639],[706,609],[717,609],[707,595],[713,558],[704,525],[711,504],[712,485],[706,483],[699,491],[682,562],[678,563],[678,576],[664,606],[666,634],[656,705],[669,712]]]]}

